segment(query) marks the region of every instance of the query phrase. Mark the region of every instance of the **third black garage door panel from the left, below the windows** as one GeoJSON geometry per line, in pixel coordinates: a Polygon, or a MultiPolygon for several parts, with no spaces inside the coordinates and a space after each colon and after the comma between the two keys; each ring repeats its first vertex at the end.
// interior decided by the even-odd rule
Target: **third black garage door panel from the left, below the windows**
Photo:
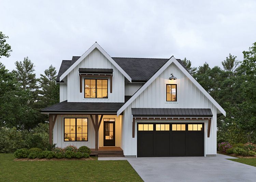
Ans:
{"type": "Polygon", "coordinates": [[[172,133],[171,155],[186,155],[186,133],[172,133]]]}

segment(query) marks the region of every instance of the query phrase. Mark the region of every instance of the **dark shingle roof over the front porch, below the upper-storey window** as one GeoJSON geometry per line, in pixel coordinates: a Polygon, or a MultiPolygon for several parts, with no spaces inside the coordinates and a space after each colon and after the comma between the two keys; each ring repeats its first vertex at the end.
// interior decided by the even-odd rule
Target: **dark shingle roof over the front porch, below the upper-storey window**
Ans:
{"type": "MultiPolygon", "coordinates": [[[[131,96],[125,96],[125,102],[127,102],[131,98],[131,96]]],[[[98,102],[67,102],[63,101],[61,103],[46,107],[42,109],[41,113],[89,113],[89,112],[109,112],[116,113],[118,109],[120,109],[124,103],[98,103],[98,102]]]]}

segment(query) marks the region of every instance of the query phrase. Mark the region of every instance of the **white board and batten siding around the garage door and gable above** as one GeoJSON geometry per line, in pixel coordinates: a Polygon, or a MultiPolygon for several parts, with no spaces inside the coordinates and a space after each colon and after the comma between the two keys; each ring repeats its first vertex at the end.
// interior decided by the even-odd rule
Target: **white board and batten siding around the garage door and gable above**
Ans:
{"type": "MultiPolygon", "coordinates": [[[[131,108],[210,108],[213,113],[210,138],[207,137],[208,121],[204,121],[205,153],[216,154],[217,148],[217,108],[209,99],[187,78],[187,76],[172,63],[163,71],[125,110],[122,147],[125,156],[137,156],[137,122],[135,138],[132,138],[131,108]],[[171,73],[177,80],[169,80],[171,73]],[[177,102],[166,102],[166,84],[177,84],[177,102]]],[[[140,121],[141,122],[141,121],[140,121]]],[[[155,121],[157,122],[157,121],[155,121]]],[[[162,122],[162,121],[161,121],[162,122]]],[[[179,121],[173,121],[179,122],[179,121]]],[[[184,121],[183,121],[184,122],[184,121]]],[[[202,122],[195,121],[192,122],[202,122]]]]}

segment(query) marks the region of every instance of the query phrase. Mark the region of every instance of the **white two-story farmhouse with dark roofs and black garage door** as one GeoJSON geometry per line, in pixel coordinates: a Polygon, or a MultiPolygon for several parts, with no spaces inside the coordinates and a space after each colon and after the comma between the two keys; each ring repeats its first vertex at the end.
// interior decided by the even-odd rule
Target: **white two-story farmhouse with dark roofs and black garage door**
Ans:
{"type": "Polygon", "coordinates": [[[57,84],[60,103],[41,110],[51,144],[104,156],[216,155],[217,114],[226,112],[174,56],[111,57],[96,42],[62,61],[57,84]]]}

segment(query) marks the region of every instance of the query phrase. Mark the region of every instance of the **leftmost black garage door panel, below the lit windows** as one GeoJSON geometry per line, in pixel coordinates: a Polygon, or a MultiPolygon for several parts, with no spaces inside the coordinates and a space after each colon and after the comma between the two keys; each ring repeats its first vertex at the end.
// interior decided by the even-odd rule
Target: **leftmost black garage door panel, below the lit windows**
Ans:
{"type": "Polygon", "coordinates": [[[138,157],[154,156],[154,133],[138,133],[138,157]]]}

